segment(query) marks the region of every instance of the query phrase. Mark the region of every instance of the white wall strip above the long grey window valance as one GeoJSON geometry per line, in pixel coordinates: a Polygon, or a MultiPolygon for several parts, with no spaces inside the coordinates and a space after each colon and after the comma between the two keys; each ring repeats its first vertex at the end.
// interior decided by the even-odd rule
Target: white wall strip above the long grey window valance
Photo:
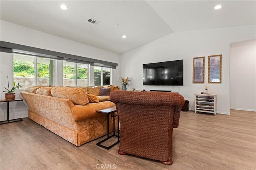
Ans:
{"type": "Polygon", "coordinates": [[[118,63],[118,67],[116,67],[117,74],[114,75],[112,82],[113,85],[118,84],[118,78],[120,77],[119,54],[53,36],[51,34],[46,34],[44,32],[6,22],[4,20],[0,20],[0,22],[1,41],[118,63]]]}

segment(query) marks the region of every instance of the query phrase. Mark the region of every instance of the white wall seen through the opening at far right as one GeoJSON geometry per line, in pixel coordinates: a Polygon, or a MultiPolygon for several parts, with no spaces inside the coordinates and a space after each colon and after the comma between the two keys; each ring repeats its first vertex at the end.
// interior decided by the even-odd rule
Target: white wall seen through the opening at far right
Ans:
{"type": "Polygon", "coordinates": [[[256,111],[256,41],[230,44],[230,108],[256,111]]]}

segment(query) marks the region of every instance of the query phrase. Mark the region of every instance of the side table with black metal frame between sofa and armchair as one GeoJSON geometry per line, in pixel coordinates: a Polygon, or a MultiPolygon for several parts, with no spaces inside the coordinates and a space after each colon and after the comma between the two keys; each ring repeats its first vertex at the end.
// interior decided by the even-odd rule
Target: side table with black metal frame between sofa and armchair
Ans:
{"type": "Polygon", "coordinates": [[[113,107],[110,107],[110,108],[107,108],[107,109],[101,109],[101,110],[97,110],[96,112],[98,113],[103,113],[103,114],[106,114],[107,115],[107,121],[108,121],[108,137],[105,138],[104,140],[98,142],[96,145],[102,147],[102,148],[105,148],[105,149],[110,149],[112,148],[112,146],[114,146],[115,144],[117,144],[118,142],[120,142],[120,135],[119,135],[119,117],[117,116],[117,135],[115,134],[115,112],[116,112],[116,106],[113,106],[113,107]],[[109,132],[109,115],[112,114],[113,115],[113,134],[111,136],[109,136],[110,132],[109,132]],[[115,143],[113,143],[112,145],[110,146],[104,146],[102,145],[101,143],[102,142],[105,142],[106,140],[112,138],[113,136],[117,136],[117,141],[115,143]]]}

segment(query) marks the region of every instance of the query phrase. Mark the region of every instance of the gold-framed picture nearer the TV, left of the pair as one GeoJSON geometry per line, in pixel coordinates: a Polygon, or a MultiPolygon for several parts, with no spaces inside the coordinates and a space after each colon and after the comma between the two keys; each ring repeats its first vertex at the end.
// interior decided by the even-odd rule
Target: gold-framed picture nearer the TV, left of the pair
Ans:
{"type": "Polygon", "coordinates": [[[204,83],[204,57],[193,58],[193,83],[204,83]]]}

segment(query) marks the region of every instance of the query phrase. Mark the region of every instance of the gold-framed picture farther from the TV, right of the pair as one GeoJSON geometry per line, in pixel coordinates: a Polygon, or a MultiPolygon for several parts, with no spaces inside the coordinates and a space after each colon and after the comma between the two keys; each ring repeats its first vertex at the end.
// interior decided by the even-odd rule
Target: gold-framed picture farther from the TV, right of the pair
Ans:
{"type": "Polygon", "coordinates": [[[208,56],[208,83],[221,83],[221,57],[221,54],[208,56]]]}

